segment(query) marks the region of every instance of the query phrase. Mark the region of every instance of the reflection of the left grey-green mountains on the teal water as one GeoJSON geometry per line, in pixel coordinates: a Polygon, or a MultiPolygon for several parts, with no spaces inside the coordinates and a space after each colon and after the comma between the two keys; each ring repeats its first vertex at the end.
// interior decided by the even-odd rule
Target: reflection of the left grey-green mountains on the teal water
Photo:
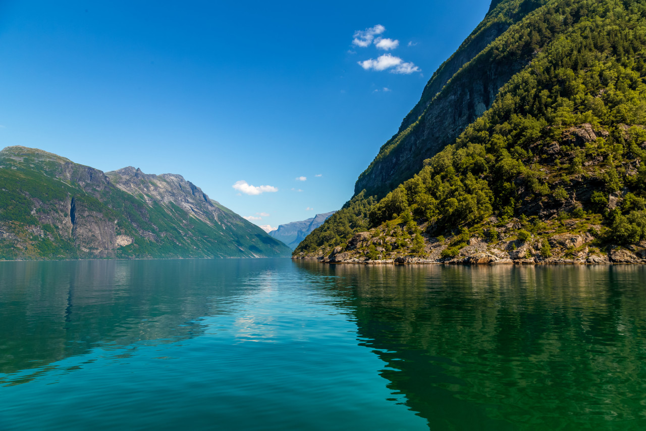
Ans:
{"type": "Polygon", "coordinates": [[[41,368],[98,346],[200,335],[202,316],[227,312],[231,297],[248,292],[241,283],[258,271],[250,265],[244,260],[226,266],[210,260],[0,262],[0,373],[41,368]]]}

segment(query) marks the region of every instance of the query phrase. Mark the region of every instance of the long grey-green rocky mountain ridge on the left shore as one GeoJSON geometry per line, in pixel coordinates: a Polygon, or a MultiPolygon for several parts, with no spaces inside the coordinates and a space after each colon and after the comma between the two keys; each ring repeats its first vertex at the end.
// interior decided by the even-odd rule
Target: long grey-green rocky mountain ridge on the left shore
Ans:
{"type": "Polygon", "coordinates": [[[0,259],[273,256],[289,248],[182,175],[0,151],[0,259]]]}

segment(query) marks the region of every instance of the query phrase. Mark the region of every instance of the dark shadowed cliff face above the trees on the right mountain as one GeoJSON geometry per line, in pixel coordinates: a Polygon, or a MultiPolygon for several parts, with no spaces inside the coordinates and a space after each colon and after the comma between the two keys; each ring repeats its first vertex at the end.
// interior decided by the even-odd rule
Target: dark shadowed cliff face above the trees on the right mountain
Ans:
{"type": "Polygon", "coordinates": [[[498,3],[492,3],[483,22],[433,74],[397,134],[359,175],[355,195],[366,190],[368,196],[382,197],[412,177],[424,159],[452,144],[464,127],[489,109],[500,87],[530,61],[530,51],[510,52],[492,61],[487,46],[545,2],[528,1],[526,8],[513,11],[498,3]]]}

